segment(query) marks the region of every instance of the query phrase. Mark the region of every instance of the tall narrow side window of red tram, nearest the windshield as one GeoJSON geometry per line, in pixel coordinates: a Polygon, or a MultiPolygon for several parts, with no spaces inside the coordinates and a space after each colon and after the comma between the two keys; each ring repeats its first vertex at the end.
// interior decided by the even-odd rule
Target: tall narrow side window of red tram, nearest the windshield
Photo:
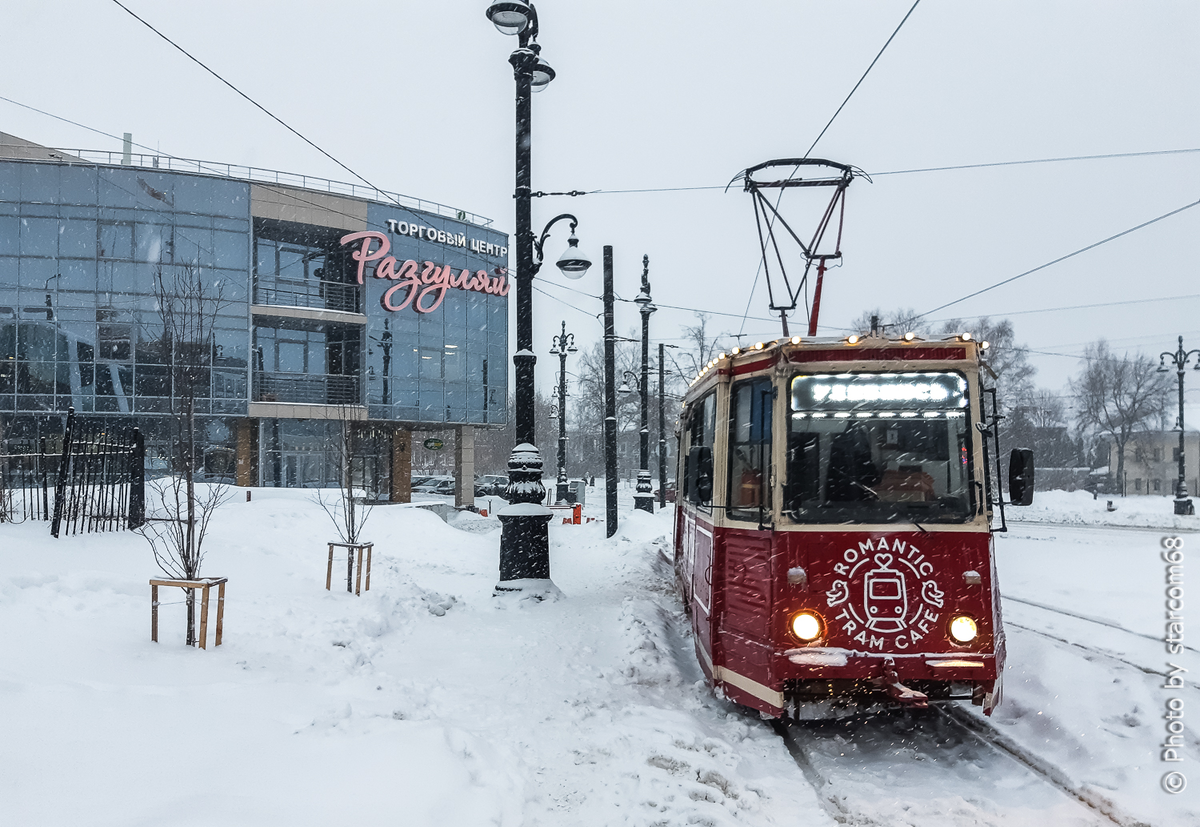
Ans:
{"type": "Polygon", "coordinates": [[[770,406],[769,379],[733,386],[730,404],[728,516],[762,520],[770,509],[770,406]]]}

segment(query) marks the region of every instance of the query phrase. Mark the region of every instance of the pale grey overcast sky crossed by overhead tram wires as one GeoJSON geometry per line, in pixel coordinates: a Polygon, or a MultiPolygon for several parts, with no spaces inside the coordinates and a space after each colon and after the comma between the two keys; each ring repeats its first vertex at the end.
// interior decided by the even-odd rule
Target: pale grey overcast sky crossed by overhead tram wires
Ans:
{"type": "MultiPolygon", "coordinates": [[[[487,22],[486,0],[126,5],[372,184],[511,232],[517,42],[487,22]]],[[[804,155],[911,6],[541,0],[542,56],[558,77],[534,97],[534,188],[718,187],[804,155]]],[[[0,28],[6,98],[164,154],[353,180],[112,0],[6,4],[0,28]]],[[[1200,4],[1182,0],[923,0],[812,151],[874,175],[850,188],[821,332],[876,306],[932,310],[1200,199],[1200,152],[883,174],[1200,149],[1198,42],[1200,4]]],[[[0,131],[120,149],[7,101],[0,131]]],[[[785,215],[812,192],[790,191],[785,215]]],[[[649,254],[655,341],[678,343],[695,323],[667,305],[751,342],[780,335],[761,280],[751,298],[760,252],[739,187],[541,198],[535,228],[562,211],[580,217],[596,266],[578,282],[550,265],[539,278],[540,385],[563,319],[581,344],[601,334],[590,296],[606,244],[624,298],[649,254]]],[[[1156,356],[1178,335],[1200,347],[1198,228],[1200,206],[931,318],[1008,316],[1052,390],[1099,336],[1156,356]]],[[[617,324],[634,329],[632,305],[618,305],[617,324]]]]}

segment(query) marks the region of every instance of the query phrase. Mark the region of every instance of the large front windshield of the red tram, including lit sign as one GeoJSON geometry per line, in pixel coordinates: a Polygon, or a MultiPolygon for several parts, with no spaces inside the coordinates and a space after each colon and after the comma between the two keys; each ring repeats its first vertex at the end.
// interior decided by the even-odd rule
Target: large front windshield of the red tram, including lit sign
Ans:
{"type": "Polygon", "coordinates": [[[961,522],[971,516],[960,373],[792,378],[784,510],[797,522],[961,522]]]}

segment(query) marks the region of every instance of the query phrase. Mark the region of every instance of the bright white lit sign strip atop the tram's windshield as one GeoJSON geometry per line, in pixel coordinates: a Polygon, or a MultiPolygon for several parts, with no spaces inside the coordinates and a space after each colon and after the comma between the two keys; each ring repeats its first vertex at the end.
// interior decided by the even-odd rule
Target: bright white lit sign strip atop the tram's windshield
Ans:
{"type": "Polygon", "coordinates": [[[928,410],[965,408],[959,373],[839,373],[792,379],[792,410],[928,410]]]}

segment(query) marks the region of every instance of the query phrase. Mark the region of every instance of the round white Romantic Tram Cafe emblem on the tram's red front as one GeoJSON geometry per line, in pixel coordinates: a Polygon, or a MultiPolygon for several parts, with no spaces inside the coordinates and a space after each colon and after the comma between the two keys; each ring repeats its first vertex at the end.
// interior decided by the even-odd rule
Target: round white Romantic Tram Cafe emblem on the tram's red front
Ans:
{"type": "Polygon", "coordinates": [[[841,607],[832,625],[840,624],[851,640],[868,649],[886,642],[905,649],[934,630],[946,594],[934,565],[905,540],[859,543],[842,552],[834,573],[839,579],[826,592],[826,605],[841,607]]]}

